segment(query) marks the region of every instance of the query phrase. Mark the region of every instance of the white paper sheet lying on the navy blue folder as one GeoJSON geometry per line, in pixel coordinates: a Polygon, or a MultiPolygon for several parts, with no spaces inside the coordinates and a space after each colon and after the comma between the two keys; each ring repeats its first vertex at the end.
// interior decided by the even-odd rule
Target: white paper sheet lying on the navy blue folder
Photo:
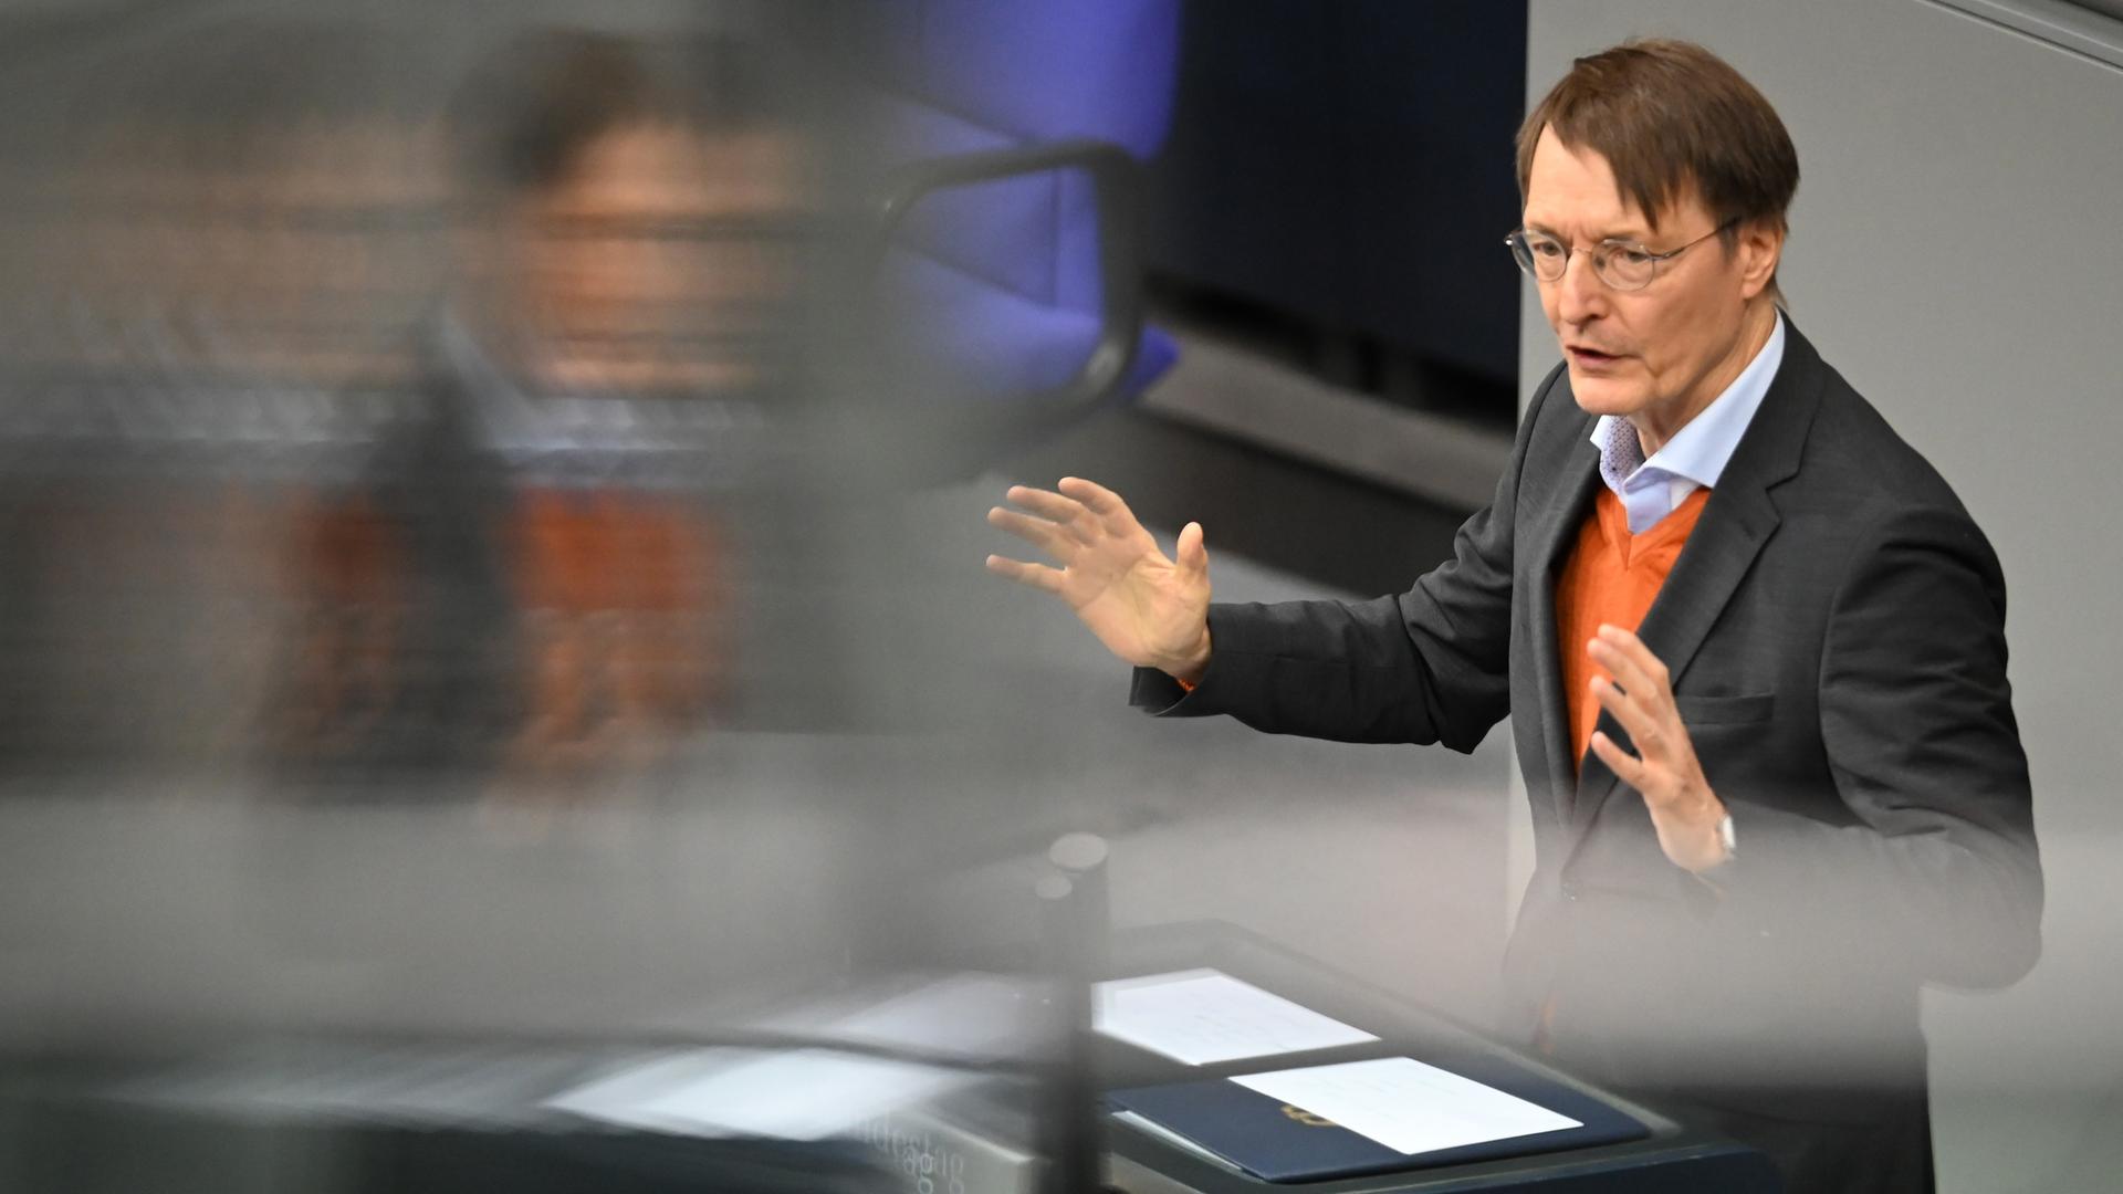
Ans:
{"type": "Polygon", "coordinates": [[[1231,1081],[1403,1154],[1582,1126],[1569,1115],[1414,1058],[1250,1073],[1231,1081]]]}

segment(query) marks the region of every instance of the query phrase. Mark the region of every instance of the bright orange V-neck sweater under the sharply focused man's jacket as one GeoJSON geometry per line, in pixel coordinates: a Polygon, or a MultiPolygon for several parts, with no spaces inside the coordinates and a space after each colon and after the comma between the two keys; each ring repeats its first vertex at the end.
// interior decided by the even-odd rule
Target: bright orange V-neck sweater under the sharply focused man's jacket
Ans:
{"type": "Polygon", "coordinates": [[[1580,765],[1599,722],[1599,701],[1588,684],[1592,676],[1607,673],[1586,654],[1586,644],[1601,622],[1630,631],[1643,622],[1709,495],[1696,489],[1658,525],[1630,535],[1622,499],[1601,489],[1592,516],[1577,531],[1577,546],[1556,578],[1556,648],[1563,652],[1563,697],[1571,714],[1571,758],[1580,765]]]}

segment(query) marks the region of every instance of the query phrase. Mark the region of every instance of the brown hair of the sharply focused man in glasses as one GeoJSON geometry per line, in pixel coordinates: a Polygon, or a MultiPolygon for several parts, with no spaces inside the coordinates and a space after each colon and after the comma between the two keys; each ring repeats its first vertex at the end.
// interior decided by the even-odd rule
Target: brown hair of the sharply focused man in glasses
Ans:
{"type": "MultiPolygon", "coordinates": [[[[1777,108],[1715,53],[1684,40],[1628,40],[1571,64],[1571,72],[1518,127],[1518,198],[1526,198],[1541,130],[1573,149],[1592,149],[1613,168],[1616,187],[1658,229],[1658,217],[1690,189],[1726,227],[1771,221],[1785,229],[1798,191],[1798,151],[1777,108]]],[[[1777,280],[1768,283],[1779,297],[1777,280]]]]}

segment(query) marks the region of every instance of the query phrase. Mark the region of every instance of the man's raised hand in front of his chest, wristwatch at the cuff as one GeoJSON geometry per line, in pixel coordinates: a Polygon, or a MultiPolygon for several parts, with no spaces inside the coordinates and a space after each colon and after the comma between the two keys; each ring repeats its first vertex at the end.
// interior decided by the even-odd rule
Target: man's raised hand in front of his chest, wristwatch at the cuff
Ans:
{"type": "Polygon", "coordinates": [[[1688,727],[1673,705],[1667,665],[1622,627],[1603,625],[1599,637],[1586,644],[1586,652],[1613,676],[1613,680],[1594,676],[1592,697],[1622,722],[1641,752],[1641,756],[1628,754],[1605,733],[1592,731],[1592,754],[1643,795],[1643,803],[1652,809],[1652,826],[1658,831],[1658,848],[1675,867],[1703,873],[1724,863],[1726,850],[1718,824],[1726,807],[1696,763],[1688,727]]]}

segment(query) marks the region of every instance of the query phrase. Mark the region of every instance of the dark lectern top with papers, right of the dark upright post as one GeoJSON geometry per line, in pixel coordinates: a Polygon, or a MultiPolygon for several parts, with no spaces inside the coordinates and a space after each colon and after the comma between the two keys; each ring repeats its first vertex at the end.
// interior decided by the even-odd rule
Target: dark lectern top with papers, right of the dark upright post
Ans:
{"type": "Polygon", "coordinates": [[[1768,1160],[1229,924],[1115,937],[1108,1179],[1129,1194],[1775,1194],[1768,1160]]]}

